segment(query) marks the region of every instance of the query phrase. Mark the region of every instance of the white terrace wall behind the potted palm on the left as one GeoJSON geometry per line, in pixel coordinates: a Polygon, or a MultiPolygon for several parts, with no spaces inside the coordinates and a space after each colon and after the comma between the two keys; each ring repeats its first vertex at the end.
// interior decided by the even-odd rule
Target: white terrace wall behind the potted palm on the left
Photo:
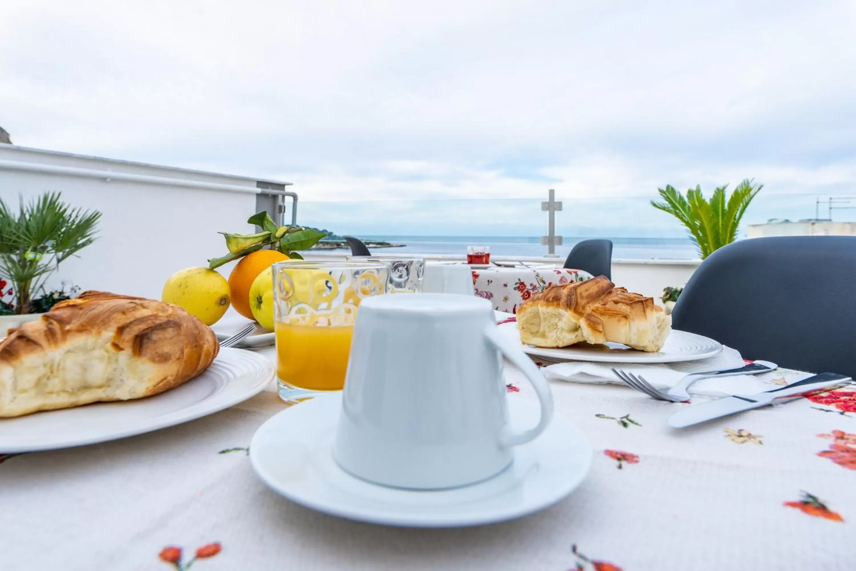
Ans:
{"type": "MultiPolygon", "coordinates": [[[[163,181],[161,181],[163,182],[163,181]]],[[[156,165],[99,158],[79,158],[52,152],[0,145],[0,198],[16,207],[48,191],[62,193],[75,207],[102,212],[99,238],[63,262],[49,284],[74,283],[81,289],[160,299],[163,283],[175,271],[208,265],[209,258],[227,253],[218,231],[252,231],[246,223],[255,213],[256,179],[197,173],[156,165]],[[101,170],[111,181],[88,175],[49,174],[23,170],[21,163],[101,170]],[[116,180],[120,174],[229,185],[234,190],[191,188],[116,180]],[[246,190],[244,190],[246,187],[246,190]]],[[[229,276],[230,266],[220,271],[229,276]]]]}

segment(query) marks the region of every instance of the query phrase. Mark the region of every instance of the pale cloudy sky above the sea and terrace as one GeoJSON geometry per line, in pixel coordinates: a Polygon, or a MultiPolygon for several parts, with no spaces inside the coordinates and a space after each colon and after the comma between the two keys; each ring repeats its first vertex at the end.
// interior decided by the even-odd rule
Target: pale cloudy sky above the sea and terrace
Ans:
{"type": "Polygon", "coordinates": [[[750,223],[856,195],[854,29],[853,2],[3,0],[0,126],[293,182],[340,233],[539,233],[555,188],[566,235],[683,235],[658,187],[753,178],[750,223]]]}

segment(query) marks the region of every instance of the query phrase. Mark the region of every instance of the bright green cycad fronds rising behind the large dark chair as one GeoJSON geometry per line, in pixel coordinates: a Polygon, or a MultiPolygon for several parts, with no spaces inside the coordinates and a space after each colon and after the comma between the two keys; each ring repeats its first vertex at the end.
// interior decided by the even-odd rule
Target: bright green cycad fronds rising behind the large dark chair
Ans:
{"type": "Polygon", "coordinates": [[[687,227],[690,239],[698,247],[701,259],[705,259],[716,249],[737,238],[740,219],[764,185],[753,184],[752,179],[746,179],[740,182],[728,197],[725,193],[727,187],[728,185],[716,188],[708,200],[704,198],[699,186],[687,190],[685,198],[675,187],[666,185],[665,188],[657,189],[663,202],[651,200],[651,205],[680,220],[687,227]]]}

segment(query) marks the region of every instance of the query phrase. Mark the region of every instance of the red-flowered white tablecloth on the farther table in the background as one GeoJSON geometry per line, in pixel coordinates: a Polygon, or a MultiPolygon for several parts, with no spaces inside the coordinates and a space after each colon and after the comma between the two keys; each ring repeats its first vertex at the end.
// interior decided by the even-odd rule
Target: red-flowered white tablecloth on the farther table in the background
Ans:
{"type": "Polygon", "coordinates": [[[516,313],[521,303],[548,285],[585,282],[591,274],[566,268],[487,268],[473,270],[473,288],[500,312],[516,313]]]}

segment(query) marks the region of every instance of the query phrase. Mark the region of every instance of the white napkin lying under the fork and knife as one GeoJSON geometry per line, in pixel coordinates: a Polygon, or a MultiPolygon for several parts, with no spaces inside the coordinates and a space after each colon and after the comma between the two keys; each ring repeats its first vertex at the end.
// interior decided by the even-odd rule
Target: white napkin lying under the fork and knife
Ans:
{"type": "MultiPolygon", "coordinates": [[[[541,360],[541,358],[536,358],[541,360]]],[[[549,360],[547,361],[549,362],[549,360]]],[[[544,365],[547,364],[544,362],[544,365]]],[[[710,359],[687,361],[683,363],[657,363],[642,365],[637,363],[594,363],[591,361],[572,361],[556,363],[541,369],[544,377],[548,379],[559,379],[573,383],[624,384],[615,377],[610,370],[613,367],[621,371],[645,377],[645,380],[657,389],[671,389],[693,372],[720,371],[722,369],[734,369],[744,366],[746,362],[740,357],[735,349],[723,347],[722,353],[710,359]]],[[[805,373],[808,377],[809,373],[805,373]]],[[[793,383],[788,378],[788,383],[793,383]]],[[[693,396],[728,396],[728,395],[754,395],[764,390],[770,390],[782,382],[782,372],[768,372],[760,375],[737,375],[735,377],[703,378],[693,383],[688,392],[693,396]]],[[[627,386],[627,385],[625,385],[627,386]]],[[[630,387],[627,387],[630,389],[630,387]]]]}

